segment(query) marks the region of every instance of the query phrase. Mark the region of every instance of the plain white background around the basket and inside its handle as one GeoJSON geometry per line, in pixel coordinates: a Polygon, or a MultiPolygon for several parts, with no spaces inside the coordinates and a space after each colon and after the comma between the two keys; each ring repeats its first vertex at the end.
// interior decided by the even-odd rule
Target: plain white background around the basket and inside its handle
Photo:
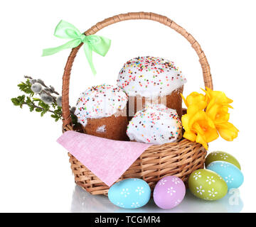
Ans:
{"type": "MultiPolygon", "coordinates": [[[[27,74],[43,79],[60,92],[65,61],[70,50],[41,57],[43,48],[65,43],[53,36],[60,19],[81,32],[118,13],[152,11],[167,16],[200,43],[213,75],[215,90],[234,100],[230,122],[240,133],[234,142],[218,139],[209,151],[224,150],[238,158],[245,176],[238,206],[228,196],[207,202],[191,194],[168,212],[255,212],[255,1],[1,1],[1,150],[0,211],[110,211],[124,212],[104,196],[91,196],[75,187],[68,155],[55,140],[61,122],[41,118],[26,106],[19,109],[11,97],[20,92],[16,84],[27,74]]],[[[90,72],[82,49],[73,65],[70,104],[91,85],[115,84],[122,64],[138,55],[166,57],[186,75],[185,94],[203,87],[196,52],[185,38],[154,21],[124,21],[98,33],[112,40],[106,57],[93,55],[97,69],[90,72]]],[[[151,201],[136,211],[161,212],[151,201]]]]}

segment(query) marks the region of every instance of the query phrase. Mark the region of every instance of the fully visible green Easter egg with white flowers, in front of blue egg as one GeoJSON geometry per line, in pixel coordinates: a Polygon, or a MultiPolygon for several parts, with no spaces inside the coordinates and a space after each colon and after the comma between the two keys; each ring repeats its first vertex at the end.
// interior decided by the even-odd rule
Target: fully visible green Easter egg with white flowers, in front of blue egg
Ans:
{"type": "Polygon", "coordinates": [[[200,199],[221,199],[228,192],[228,185],[220,175],[210,170],[196,170],[188,178],[188,188],[200,199]]]}

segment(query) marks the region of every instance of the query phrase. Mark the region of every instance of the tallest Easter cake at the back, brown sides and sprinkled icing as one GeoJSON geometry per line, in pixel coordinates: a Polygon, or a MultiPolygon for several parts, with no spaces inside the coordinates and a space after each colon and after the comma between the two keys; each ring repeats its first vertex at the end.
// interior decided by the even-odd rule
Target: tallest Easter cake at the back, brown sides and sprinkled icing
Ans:
{"type": "Polygon", "coordinates": [[[186,78],[174,62],[161,57],[135,57],[124,64],[117,85],[129,96],[128,116],[146,104],[165,104],[182,115],[183,84],[186,78]]]}

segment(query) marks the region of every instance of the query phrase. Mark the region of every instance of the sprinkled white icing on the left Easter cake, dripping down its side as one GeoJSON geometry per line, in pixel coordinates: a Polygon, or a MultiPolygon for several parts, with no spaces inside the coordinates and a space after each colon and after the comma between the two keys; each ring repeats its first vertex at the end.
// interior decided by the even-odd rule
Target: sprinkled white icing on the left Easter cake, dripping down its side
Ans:
{"type": "Polygon", "coordinates": [[[105,84],[90,87],[80,94],[75,116],[82,126],[86,126],[87,118],[104,118],[122,111],[127,100],[127,95],[119,87],[105,84]]]}

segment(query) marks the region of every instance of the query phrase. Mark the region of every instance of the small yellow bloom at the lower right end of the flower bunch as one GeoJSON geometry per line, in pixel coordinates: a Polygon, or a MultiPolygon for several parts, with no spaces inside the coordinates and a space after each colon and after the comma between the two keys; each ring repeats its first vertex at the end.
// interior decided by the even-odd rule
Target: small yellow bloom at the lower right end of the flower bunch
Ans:
{"type": "Polygon", "coordinates": [[[233,141],[238,137],[238,128],[235,128],[232,123],[220,123],[216,128],[224,140],[233,141]]]}

